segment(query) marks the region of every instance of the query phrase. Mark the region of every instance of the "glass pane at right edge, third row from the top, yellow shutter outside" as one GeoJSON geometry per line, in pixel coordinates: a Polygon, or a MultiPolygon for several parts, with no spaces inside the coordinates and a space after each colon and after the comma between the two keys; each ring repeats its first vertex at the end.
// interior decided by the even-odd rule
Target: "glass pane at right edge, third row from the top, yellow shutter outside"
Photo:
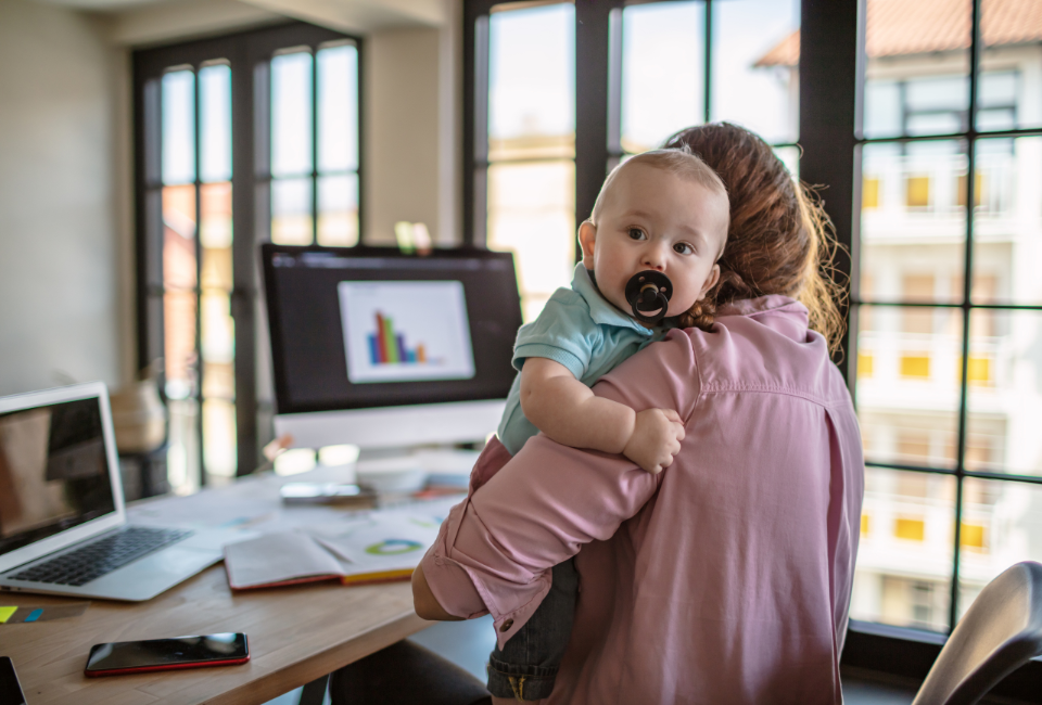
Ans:
{"type": "Polygon", "coordinates": [[[1040,311],[970,311],[967,470],[1042,475],[1040,341],[1040,311]]]}

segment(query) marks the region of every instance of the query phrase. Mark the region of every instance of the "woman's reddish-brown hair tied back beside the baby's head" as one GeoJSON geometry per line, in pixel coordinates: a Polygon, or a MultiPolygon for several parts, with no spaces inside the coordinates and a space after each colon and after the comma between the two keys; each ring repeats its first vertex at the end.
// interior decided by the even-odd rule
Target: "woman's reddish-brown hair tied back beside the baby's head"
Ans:
{"type": "Polygon", "coordinates": [[[720,281],[681,324],[709,330],[717,306],[782,294],[806,306],[810,326],[837,350],[846,325],[839,306],[847,294],[833,279],[839,245],[817,195],[792,178],[766,142],[737,125],[700,125],[665,142],[666,149],[683,146],[723,180],[730,227],[717,262],[720,281]]]}

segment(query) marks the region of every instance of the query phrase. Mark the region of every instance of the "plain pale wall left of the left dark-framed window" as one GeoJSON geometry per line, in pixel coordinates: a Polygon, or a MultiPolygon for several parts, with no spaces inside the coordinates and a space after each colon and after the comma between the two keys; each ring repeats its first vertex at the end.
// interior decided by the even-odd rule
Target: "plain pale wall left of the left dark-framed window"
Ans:
{"type": "Polygon", "coordinates": [[[129,375],[128,86],[93,21],[0,0],[0,395],[129,375]]]}

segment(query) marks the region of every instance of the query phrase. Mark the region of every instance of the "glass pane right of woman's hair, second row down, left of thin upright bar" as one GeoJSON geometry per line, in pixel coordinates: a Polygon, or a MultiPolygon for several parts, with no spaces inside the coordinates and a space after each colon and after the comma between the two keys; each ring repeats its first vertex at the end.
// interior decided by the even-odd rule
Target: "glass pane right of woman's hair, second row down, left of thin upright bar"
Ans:
{"type": "Polygon", "coordinates": [[[963,142],[868,144],[862,159],[861,297],[961,303],[966,209],[963,142]]]}

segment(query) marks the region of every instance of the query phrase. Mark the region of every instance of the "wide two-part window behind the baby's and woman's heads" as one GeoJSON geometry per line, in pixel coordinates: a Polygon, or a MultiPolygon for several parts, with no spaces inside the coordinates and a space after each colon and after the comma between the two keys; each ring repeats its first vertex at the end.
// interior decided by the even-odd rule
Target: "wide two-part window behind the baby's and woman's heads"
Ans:
{"type": "Polygon", "coordinates": [[[621,159],[727,119],[797,169],[796,0],[475,0],[466,26],[466,241],[514,253],[526,320],[571,280],[621,159]]]}

